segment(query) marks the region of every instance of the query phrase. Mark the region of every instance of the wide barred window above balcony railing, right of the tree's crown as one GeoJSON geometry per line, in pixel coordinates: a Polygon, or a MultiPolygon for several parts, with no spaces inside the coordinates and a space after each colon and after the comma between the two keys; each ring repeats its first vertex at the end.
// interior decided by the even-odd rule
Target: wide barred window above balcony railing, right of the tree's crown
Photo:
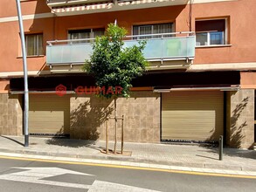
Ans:
{"type": "MultiPolygon", "coordinates": [[[[146,24],[146,25],[136,25],[133,27],[134,35],[150,35],[158,33],[170,33],[173,32],[173,24],[146,24]]],[[[165,35],[164,38],[171,37],[171,35],[165,35]]],[[[143,38],[161,38],[161,36],[144,36],[143,38]]],[[[137,39],[137,38],[135,38],[137,39]]]]}

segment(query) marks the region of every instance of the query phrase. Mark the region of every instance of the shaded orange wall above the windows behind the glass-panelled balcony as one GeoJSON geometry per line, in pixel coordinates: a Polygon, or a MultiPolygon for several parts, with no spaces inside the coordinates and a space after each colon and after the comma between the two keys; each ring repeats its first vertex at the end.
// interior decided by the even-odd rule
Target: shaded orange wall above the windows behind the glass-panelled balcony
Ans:
{"type": "MultiPolygon", "coordinates": [[[[56,17],[56,38],[67,38],[67,30],[79,28],[107,27],[107,24],[117,23],[125,27],[130,34],[133,24],[157,24],[175,22],[185,6],[163,7],[143,10],[125,10],[105,13],[94,13],[71,17],[56,17]]],[[[177,24],[177,26],[180,24],[177,24]]]]}

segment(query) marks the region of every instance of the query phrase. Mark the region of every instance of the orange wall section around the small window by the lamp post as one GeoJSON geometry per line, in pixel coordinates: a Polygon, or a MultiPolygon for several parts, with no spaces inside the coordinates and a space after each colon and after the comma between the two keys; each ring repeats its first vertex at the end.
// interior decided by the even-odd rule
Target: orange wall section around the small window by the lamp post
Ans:
{"type": "MultiPolygon", "coordinates": [[[[53,38],[52,18],[41,18],[24,20],[25,32],[43,32],[44,47],[46,40],[53,38]]],[[[0,23],[0,72],[21,72],[23,71],[22,51],[17,22],[0,23]]],[[[38,71],[45,65],[45,57],[28,57],[28,69],[38,71]]]]}

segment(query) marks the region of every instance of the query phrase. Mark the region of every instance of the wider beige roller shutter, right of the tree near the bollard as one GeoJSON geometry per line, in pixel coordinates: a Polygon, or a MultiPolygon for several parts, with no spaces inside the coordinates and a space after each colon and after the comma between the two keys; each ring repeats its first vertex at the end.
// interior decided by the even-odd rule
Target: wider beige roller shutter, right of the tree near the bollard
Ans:
{"type": "Polygon", "coordinates": [[[223,134],[223,92],[162,94],[162,140],[218,141],[223,134]]]}

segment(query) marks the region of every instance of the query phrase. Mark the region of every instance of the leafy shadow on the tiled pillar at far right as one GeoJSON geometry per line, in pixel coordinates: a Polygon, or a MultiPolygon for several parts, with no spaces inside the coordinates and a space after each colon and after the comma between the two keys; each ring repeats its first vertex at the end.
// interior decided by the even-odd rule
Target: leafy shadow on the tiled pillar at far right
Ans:
{"type": "Polygon", "coordinates": [[[247,126],[247,122],[239,122],[239,117],[241,113],[244,111],[248,104],[249,98],[246,97],[243,99],[236,108],[232,111],[231,118],[231,135],[230,135],[230,145],[233,147],[241,147],[241,141],[244,139],[244,135],[242,134],[242,130],[247,126]]]}

